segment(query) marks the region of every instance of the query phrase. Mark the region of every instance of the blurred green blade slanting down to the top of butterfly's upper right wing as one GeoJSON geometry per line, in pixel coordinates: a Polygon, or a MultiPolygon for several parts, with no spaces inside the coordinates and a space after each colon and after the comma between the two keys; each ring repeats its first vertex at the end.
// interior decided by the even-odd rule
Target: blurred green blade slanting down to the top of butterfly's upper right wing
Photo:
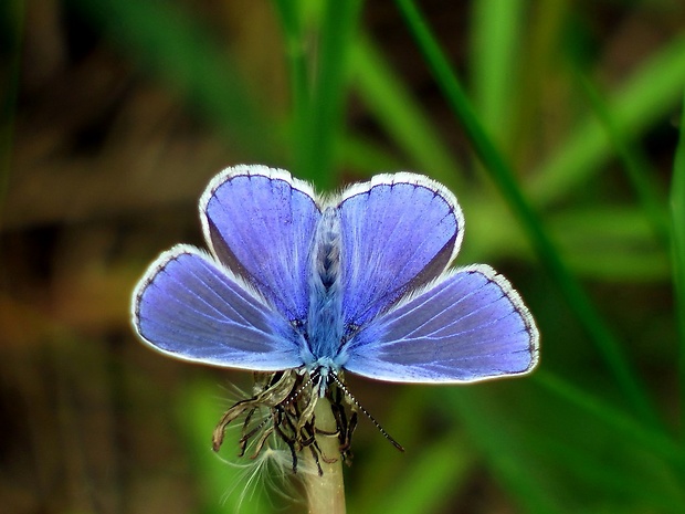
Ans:
{"type": "Polygon", "coordinates": [[[441,135],[367,38],[356,39],[351,48],[351,66],[359,95],[412,165],[419,171],[461,189],[459,165],[441,135]]]}

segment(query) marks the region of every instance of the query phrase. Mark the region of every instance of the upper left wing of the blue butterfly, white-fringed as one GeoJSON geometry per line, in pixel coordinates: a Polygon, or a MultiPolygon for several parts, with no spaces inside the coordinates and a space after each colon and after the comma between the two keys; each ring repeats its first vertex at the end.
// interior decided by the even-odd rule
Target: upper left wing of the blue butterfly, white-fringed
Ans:
{"type": "Polygon", "coordinates": [[[200,217],[223,264],[289,321],[306,318],[307,255],[320,218],[306,182],[264,166],[229,168],[202,196],[200,217]]]}

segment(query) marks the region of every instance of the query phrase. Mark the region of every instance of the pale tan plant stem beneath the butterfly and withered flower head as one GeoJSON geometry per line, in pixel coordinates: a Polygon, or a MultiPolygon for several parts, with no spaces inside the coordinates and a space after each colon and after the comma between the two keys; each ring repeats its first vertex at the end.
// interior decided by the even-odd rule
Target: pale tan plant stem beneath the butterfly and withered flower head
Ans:
{"type": "MultiPolygon", "coordinates": [[[[336,420],[327,398],[319,398],[314,409],[316,428],[326,433],[337,431],[336,420]]],[[[316,443],[320,450],[318,461],[323,474],[316,472],[305,475],[305,489],[309,514],[345,514],[345,483],[342,481],[342,459],[340,457],[337,436],[316,434],[316,443]],[[326,462],[335,459],[335,462],[326,462]]],[[[305,450],[307,468],[316,470],[314,457],[305,450]]]]}

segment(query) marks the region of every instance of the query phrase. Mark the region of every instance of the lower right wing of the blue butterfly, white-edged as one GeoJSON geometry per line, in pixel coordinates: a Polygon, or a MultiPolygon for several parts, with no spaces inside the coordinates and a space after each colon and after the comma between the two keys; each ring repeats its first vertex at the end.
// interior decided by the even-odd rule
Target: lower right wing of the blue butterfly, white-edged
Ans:
{"type": "Polygon", "coordinates": [[[485,265],[445,280],[362,328],[345,369],[397,382],[471,382],[529,373],[538,331],[519,295],[485,265]]]}

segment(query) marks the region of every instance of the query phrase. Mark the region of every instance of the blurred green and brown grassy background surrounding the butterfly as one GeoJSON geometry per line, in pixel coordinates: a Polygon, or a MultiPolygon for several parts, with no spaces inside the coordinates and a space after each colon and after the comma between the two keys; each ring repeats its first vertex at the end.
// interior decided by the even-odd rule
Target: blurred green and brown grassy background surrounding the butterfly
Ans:
{"type": "MultiPolygon", "coordinates": [[[[682,0],[6,0],[0,511],[303,512],[217,458],[249,373],[144,348],[129,296],[225,166],[330,190],[413,170],[505,273],[533,376],[348,376],[350,513],[685,508],[682,0]]],[[[225,444],[222,458],[235,460],[225,444]]]]}

